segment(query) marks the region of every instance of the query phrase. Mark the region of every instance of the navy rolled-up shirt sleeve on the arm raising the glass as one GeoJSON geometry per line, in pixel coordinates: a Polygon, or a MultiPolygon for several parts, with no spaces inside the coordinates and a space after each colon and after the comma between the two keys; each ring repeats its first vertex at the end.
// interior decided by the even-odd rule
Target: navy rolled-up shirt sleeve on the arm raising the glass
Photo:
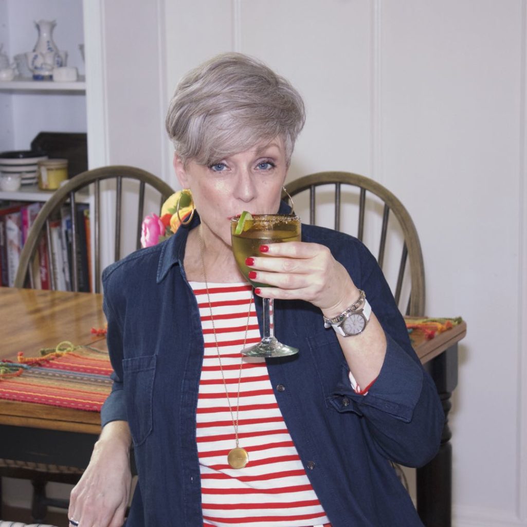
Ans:
{"type": "Polygon", "coordinates": [[[350,275],[366,292],[384,329],[386,356],[375,382],[362,394],[350,382],[344,362],[330,402],[339,412],[364,417],[372,440],[385,457],[421,466],[434,457],[440,445],[444,425],[441,402],[412,348],[382,270],[364,246],[358,247],[358,257],[360,270],[350,268],[350,275]]]}

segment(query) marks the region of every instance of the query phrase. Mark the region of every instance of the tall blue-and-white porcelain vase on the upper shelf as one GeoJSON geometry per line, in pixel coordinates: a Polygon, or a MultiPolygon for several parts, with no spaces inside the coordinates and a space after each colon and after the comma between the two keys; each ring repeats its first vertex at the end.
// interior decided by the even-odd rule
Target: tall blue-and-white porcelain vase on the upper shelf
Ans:
{"type": "Polygon", "coordinates": [[[66,65],[67,53],[60,51],[53,42],[52,33],[56,24],[54,20],[35,22],[38,40],[33,51],[26,53],[27,65],[33,72],[35,81],[50,80],[53,75],[53,68],[66,65]]]}

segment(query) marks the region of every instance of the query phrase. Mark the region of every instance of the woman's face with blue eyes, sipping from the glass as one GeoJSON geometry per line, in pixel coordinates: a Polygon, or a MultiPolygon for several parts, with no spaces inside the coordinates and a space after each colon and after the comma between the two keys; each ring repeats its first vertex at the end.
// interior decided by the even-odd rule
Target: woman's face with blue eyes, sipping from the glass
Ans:
{"type": "Polygon", "coordinates": [[[209,167],[192,160],[183,166],[175,155],[174,169],[182,187],[191,190],[203,226],[230,246],[231,218],[244,210],[278,212],[287,173],[284,141],[261,142],[209,167]]]}

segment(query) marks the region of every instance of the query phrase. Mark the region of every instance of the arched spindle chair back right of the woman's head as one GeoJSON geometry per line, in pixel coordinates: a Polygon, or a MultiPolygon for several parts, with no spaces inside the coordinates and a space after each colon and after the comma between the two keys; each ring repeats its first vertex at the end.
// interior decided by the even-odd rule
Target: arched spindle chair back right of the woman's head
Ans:
{"type": "MultiPolygon", "coordinates": [[[[397,243],[390,243],[388,247],[387,240],[390,238],[388,235],[394,235],[392,238],[399,238],[401,256],[397,257],[398,271],[392,291],[403,314],[411,316],[424,314],[425,279],[421,244],[412,218],[392,192],[364,175],[350,172],[317,172],[287,183],[286,188],[289,195],[295,197],[295,209],[303,221],[307,222],[307,218],[300,213],[299,207],[302,203],[309,211],[309,223],[319,225],[320,221],[317,221],[316,213],[318,213],[319,220],[322,216],[320,209],[328,206],[334,210],[333,225],[328,226],[353,234],[361,241],[365,241],[368,225],[372,228],[370,230],[376,226],[379,227],[378,236],[370,238],[378,242],[377,261],[385,272],[385,276],[387,275],[385,264],[388,260],[394,261],[394,245],[397,245],[397,243]],[[344,209],[349,208],[348,206],[358,209],[355,220],[356,232],[350,232],[348,224],[352,221],[349,220],[349,214],[347,214],[348,220],[343,221],[344,209]],[[396,221],[392,222],[392,219],[396,221]],[[409,280],[406,269],[407,261],[410,267],[409,280]],[[409,282],[406,287],[407,295],[403,294],[405,279],[409,282]],[[407,301],[406,297],[408,297],[407,301]]],[[[285,192],[282,198],[287,199],[285,192]]],[[[324,219],[327,220],[327,217],[324,219]]],[[[365,243],[372,250],[371,245],[366,241],[365,243]]],[[[372,252],[375,254],[373,250],[372,252]]]]}

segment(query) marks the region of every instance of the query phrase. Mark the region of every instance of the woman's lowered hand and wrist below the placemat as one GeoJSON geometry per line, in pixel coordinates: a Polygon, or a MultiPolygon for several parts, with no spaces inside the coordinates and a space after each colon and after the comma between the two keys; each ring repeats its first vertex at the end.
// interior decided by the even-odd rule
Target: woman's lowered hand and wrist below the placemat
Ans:
{"type": "Polygon", "coordinates": [[[90,464],[71,492],[68,517],[79,527],[121,527],[130,498],[128,423],[108,423],[95,443],[90,464]]]}

